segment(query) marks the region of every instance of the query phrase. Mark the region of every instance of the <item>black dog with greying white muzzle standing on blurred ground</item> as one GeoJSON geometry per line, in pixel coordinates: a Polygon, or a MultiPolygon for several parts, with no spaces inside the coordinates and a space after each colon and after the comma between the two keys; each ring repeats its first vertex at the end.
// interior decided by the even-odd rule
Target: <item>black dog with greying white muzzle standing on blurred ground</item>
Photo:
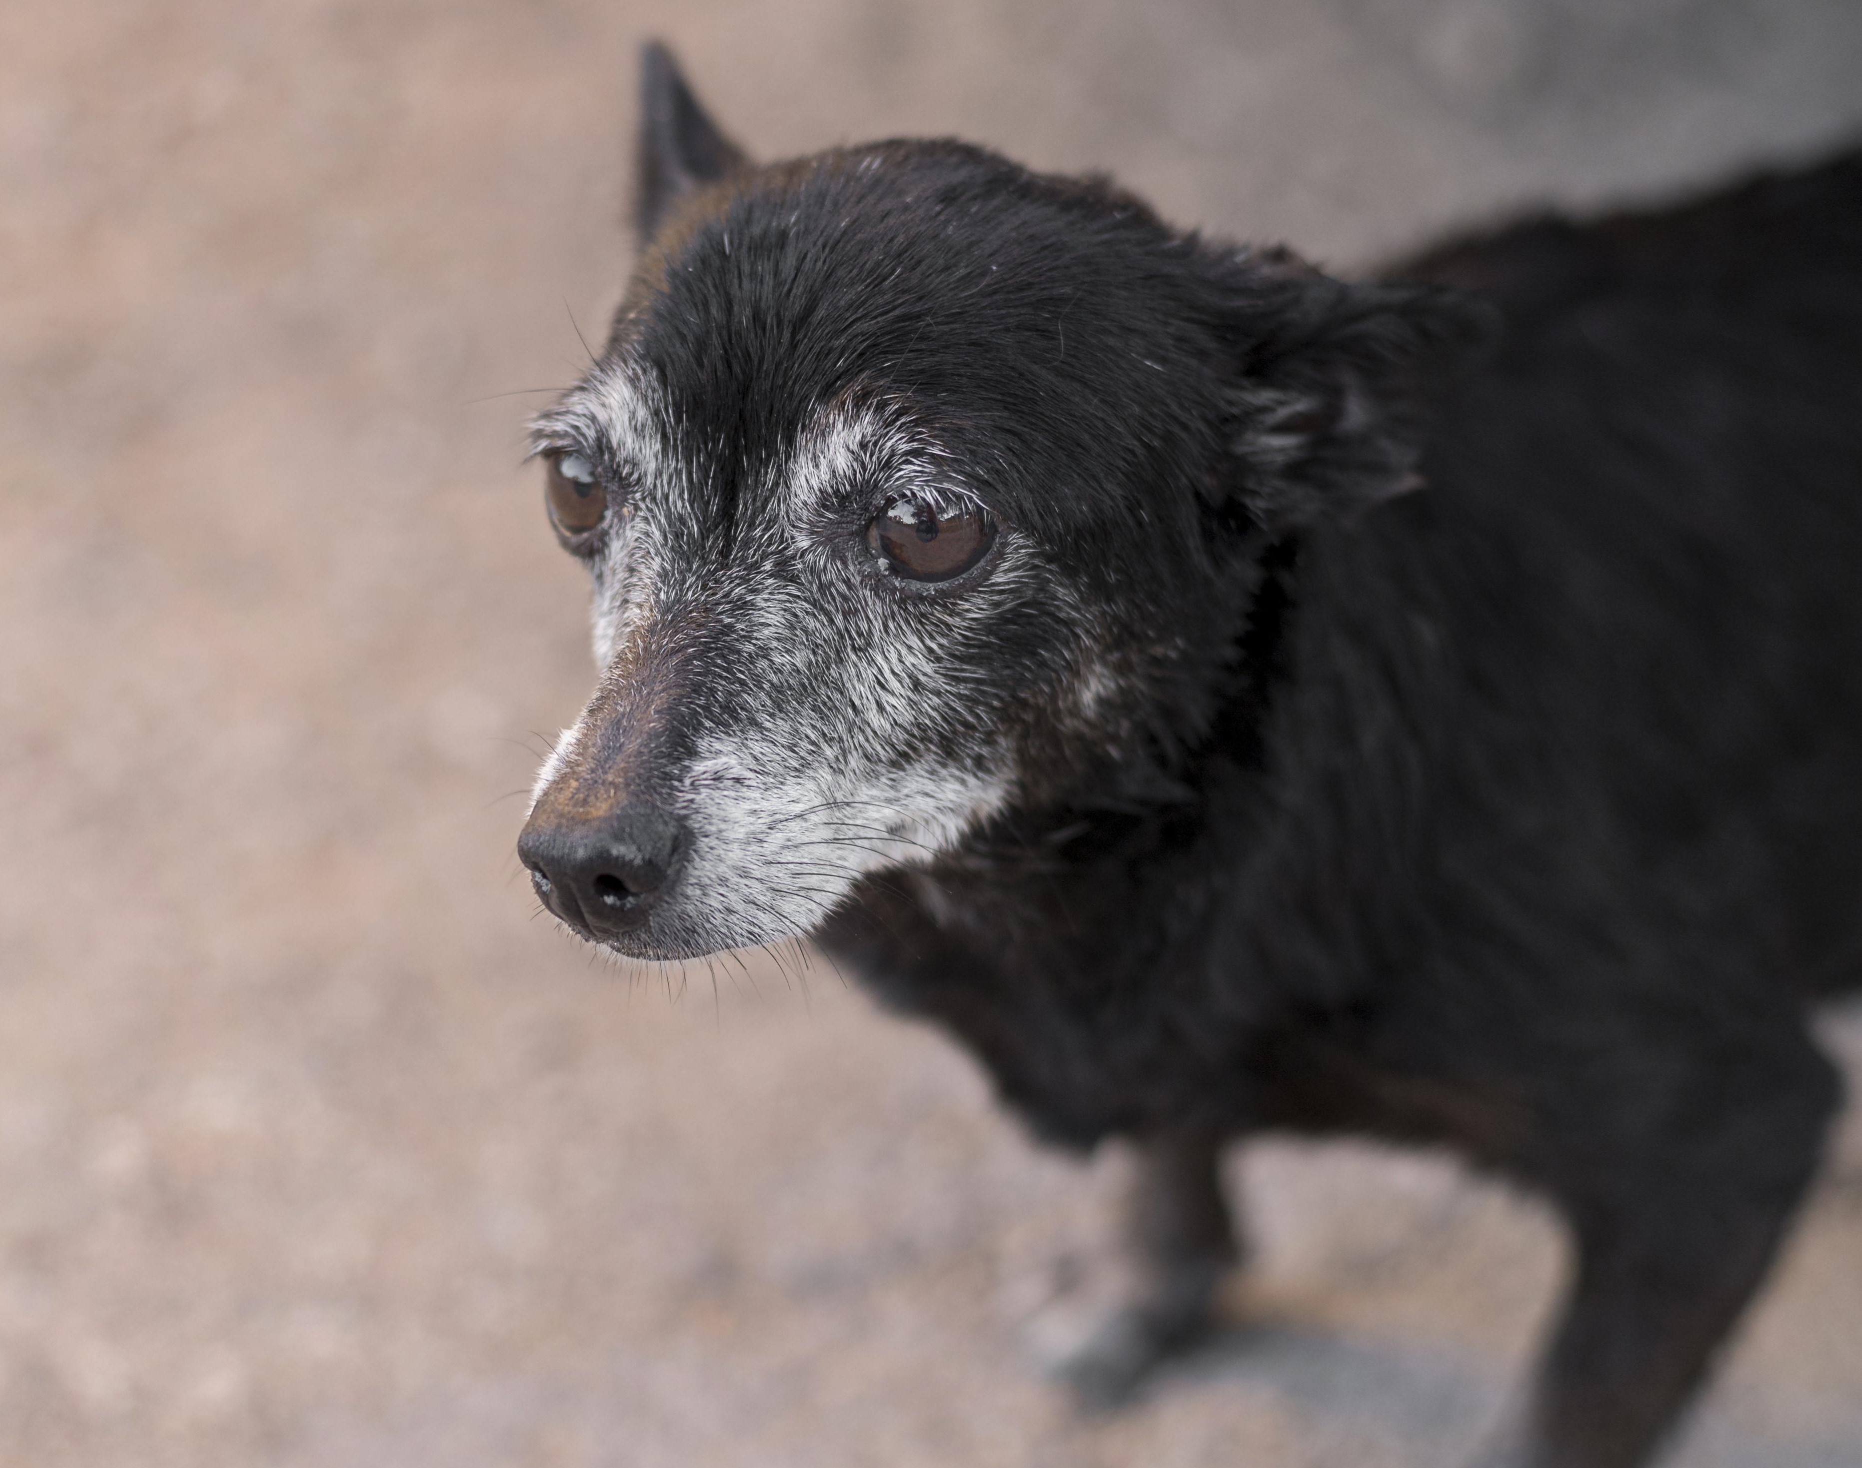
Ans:
{"type": "Polygon", "coordinates": [[[639,259],[534,422],[600,681],[583,938],[808,934],[1128,1139],[1117,1397],[1220,1148],[1450,1146],[1575,1278],[1484,1462],[1633,1468],[1765,1276],[1862,979],[1862,154],[1372,279],[957,141],[758,167],[644,54],[639,259]]]}

